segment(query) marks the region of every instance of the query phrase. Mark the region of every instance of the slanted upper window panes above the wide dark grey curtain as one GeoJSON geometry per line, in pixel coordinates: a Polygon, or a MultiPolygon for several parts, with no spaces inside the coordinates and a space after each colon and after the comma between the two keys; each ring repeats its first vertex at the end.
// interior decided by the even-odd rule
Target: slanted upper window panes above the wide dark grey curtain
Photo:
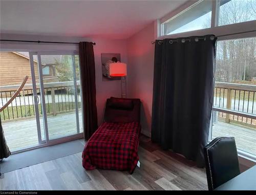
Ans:
{"type": "Polygon", "coordinates": [[[200,0],[167,20],[161,20],[161,36],[255,19],[256,0],[200,0]]]}

